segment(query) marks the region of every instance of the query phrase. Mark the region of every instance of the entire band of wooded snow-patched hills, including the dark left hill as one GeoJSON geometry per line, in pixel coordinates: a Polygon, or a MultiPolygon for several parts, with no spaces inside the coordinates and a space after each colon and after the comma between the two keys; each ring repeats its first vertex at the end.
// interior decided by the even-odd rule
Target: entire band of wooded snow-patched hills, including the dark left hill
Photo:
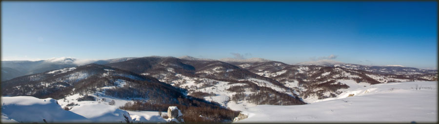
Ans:
{"type": "MultiPolygon", "coordinates": [[[[20,76],[4,81],[2,91],[5,91],[3,95],[62,98],[69,95],[62,93],[64,91],[80,93],[111,87],[117,90],[108,89],[107,95],[146,98],[141,95],[144,91],[138,88],[144,89],[142,85],[145,82],[155,82],[157,88],[172,89],[172,92],[212,101],[224,108],[243,110],[257,105],[302,105],[379,83],[437,80],[437,72],[385,74],[349,69],[347,67],[356,67],[349,64],[334,67],[299,66],[264,59],[250,60],[226,63],[163,56],[124,58],[104,65],[88,64],[20,76]],[[122,87],[126,84],[131,85],[122,87]],[[120,92],[125,94],[121,95],[120,92]]],[[[177,102],[164,100],[171,104],[177,102]]]]}

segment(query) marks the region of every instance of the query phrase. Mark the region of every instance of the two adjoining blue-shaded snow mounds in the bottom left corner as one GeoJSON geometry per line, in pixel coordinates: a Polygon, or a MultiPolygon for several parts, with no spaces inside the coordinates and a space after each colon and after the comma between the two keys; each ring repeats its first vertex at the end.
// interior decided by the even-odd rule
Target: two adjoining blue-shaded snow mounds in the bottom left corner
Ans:
{"type": "Polygon", "coordinates": [[[116,106],[90,103],[64,110],[57,100],[52,98],[38,99],[31,96],[1,98],[1,122],[22,123],[71,123],[71,122],[107,122],[125,123],[125,117],[131,117],[125,110],[116,106]]]}

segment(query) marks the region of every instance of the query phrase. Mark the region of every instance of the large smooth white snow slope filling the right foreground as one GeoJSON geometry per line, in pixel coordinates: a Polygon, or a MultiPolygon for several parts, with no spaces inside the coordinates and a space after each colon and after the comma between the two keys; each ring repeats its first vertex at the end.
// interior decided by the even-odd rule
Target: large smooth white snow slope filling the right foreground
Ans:
{"type": "Polygon", "coordinates": [[[307,105],[250,107],[242,112],[248,118],[235,123],[433,123],[438,121],[437,88],[436,81],[370,85],[307,105]]]}

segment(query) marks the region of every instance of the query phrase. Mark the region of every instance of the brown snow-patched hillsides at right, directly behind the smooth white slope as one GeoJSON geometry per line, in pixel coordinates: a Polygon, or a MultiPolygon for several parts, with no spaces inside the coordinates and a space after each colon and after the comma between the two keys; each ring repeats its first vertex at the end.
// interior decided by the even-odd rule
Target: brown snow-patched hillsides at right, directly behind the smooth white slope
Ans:
{"type": "Polygon", "coordinates": [[[388,82],[413,80],[434,81],[433,74],[381,74],[341,67],[297,66],[281,62],[240,63],[243,69],[279,81],[286,87],[295,89],[307,103],[320,99],[337,97],[351,88],[388,82]]]}

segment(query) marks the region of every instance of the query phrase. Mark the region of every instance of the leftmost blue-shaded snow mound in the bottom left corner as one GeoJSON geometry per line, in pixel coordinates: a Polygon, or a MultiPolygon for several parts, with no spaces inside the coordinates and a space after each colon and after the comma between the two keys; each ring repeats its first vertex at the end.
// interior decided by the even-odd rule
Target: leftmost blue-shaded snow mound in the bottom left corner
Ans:
{"type": "Polygon", "coordinates": [[[62,109],[57,101],[51,98],[17,96],[1,97],[1,101],[1,122],[91,122],[84,116],[62,109]]]}

